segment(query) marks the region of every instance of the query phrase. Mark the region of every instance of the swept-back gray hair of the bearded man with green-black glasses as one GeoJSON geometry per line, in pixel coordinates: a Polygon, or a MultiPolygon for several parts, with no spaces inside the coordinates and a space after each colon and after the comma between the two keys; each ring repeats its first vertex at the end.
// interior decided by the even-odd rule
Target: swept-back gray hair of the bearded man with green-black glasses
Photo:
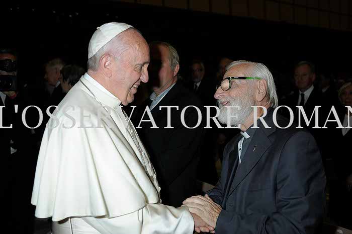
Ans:
{"type": "Polygon", "coordinates": [[[231,67],[238,65],[238,64],[250,64],[252,69],[244,71],[244,75],[248,77],[259,77],[267,82],[267,96],[269,98],[268,103],[271,104],[273,108],[278,107],[278,95],[276,93],[276,87],[274,83],[274,77],[272,72],[268,69],[268,67],[262,63],[258,62],[251,62],[246,60],[238,60],[233,61],[227,65],[226,71],[231,67]]]}

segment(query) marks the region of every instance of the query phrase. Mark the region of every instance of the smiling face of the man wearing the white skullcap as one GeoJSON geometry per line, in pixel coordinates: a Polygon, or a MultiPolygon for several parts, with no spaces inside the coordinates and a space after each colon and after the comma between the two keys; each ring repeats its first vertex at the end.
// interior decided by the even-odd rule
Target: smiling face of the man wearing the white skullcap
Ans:
{"type": "Polygon", "coordinates": [[[149,46],[134,30],[126,32],[129,47],[113,60],[113,86],[123,105],[133,102],[141,82],[148,82],[149,46]]]}

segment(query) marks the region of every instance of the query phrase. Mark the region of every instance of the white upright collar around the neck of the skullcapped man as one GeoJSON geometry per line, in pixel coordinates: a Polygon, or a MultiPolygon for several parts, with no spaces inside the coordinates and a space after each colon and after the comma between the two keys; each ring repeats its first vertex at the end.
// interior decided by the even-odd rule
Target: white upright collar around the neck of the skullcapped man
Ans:
{"type": "Polygon", "coordinates": [[[116,108],[121,105],[121,101],[117,97],[115,97],[112,93],[105,89],[101,84],[99,84],[99,82],[94,80],[94,78],[88,73],[85,73],[81,79],[85,81],[84,84],[90,85],[90,87],[93,86],[94,88],[98,89],[98,91],[95,92],[94,90],[92,90],[92,92],[103,104],[111,106],[113,108],[116,108]]]}

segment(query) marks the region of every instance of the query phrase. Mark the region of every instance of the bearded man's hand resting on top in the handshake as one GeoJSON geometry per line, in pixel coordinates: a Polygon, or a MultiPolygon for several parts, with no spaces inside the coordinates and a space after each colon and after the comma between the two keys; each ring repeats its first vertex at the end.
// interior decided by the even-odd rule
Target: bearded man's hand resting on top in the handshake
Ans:
{"type": "Polygon", "coordinates": [[[208,194],[203,196],[193,196],[187,198],[184,205],[188,206],[191,213],[197,214],[201,217],[208,225],[215,228],[216,221],[222,210],[221,206],[213,202],[208,194]]]}

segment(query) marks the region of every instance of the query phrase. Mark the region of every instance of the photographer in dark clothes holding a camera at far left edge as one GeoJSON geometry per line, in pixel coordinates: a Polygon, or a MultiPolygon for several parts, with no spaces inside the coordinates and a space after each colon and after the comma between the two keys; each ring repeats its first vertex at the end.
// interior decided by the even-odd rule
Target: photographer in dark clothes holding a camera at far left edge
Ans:
{"type": "MultiPolygon", "coordinates": [[[[34,207],[30,198],[37,151],[31,129],[22,120],[22,113],[30,103],[26,93],[20,89],[17,61],[15,50],[0,49],[0,81],[10,75],[18,84],[9,89],[0,87],[1,199],[4,201],[4,229],[28,234],[33,233],[34,228],[34,207]]],[[[32,110],[28,109],[25,116],[28,126],[34,127],[32,110]]]]}

